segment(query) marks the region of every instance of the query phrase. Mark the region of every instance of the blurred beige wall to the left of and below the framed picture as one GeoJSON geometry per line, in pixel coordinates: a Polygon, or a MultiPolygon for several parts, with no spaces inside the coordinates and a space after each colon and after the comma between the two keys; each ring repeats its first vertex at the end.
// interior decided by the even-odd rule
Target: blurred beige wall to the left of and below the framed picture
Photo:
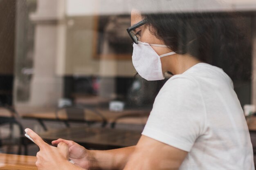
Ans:
{"type": "Polygon", "coordinates": [[[136,71],[132,60],[95,59],[95,16],[67,18],[65,59],[58,58],[58,75],[99,75],[101,77],[132,77],[136,71]]]}

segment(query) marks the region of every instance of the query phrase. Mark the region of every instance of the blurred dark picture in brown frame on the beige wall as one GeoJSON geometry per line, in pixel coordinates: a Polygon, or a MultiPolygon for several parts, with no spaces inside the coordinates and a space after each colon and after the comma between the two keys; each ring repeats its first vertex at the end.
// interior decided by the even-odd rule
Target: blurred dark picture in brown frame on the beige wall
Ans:
{"type": "Polygon", "coordinates": [[[126,31],[130,15],[95,16],[94,27],[94,59],[131,60],[132,40],[126,31]]]}

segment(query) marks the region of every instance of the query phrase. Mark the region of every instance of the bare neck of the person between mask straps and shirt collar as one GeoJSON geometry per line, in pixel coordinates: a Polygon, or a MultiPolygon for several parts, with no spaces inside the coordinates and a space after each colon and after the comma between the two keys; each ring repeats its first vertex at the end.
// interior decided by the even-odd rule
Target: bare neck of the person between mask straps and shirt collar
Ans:
{"type": "Polygon", "coordinates": [[[186,70],[201,61],[189,54],[175,54],[173,56],[162,57],[161,62],[164,73],[170,71],[176,75],[184,73],[186,70]]]}

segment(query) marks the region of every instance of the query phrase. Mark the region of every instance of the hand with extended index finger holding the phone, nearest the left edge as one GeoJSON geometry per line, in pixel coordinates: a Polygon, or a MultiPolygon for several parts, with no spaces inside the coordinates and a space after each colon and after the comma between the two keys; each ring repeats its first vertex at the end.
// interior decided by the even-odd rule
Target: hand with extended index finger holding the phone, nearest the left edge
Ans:
{"type": "Polygon", "coordinates": [[[69,148],[67,144],[59,142],[56,148],[45,143],[33,130],[27,128],[25,132],[27,132],[40,148],[40,151],[36,154],[36,166],[38,170],[64,170],[69,167],[69,164],[72,164],[68,161],[69,148]]]}

